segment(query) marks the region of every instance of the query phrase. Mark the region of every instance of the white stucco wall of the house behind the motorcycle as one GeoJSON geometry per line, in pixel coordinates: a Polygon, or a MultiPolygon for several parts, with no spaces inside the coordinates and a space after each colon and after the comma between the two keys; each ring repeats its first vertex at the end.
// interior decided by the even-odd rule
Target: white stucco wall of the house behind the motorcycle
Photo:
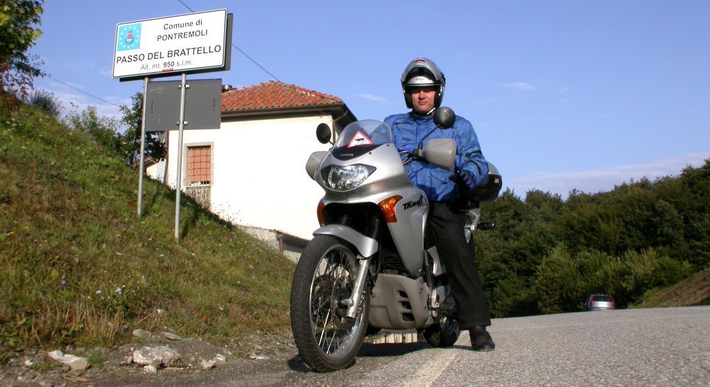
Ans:
{"type": "MultiPolygon", "coordinates": [[[[276,229],[311,239],[318,227],[316,207],[322,188],[305,173],[313,151],[330,145],[315,138],[329,116],[222,122],[221,129],[184,131],[182,181],[187,146],[212,144],[210,209],[223,219],[276,229]]],[[[178,131],[170,131],[168,184],[175,187],[178,131]]]]}

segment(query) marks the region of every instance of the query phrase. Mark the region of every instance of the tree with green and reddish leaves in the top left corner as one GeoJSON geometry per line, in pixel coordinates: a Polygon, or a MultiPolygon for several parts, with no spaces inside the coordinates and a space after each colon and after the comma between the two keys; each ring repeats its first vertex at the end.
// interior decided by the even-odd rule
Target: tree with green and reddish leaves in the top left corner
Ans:
{"type": "Polygon", "coordinates": [[[27,50],[40,38],[42,31],[33,28],[40,23],[43,1],[0,0],[0,97],[13,105],[16,97],[26,97],[32,79],[44,75],[36,55],[27,50]]]}

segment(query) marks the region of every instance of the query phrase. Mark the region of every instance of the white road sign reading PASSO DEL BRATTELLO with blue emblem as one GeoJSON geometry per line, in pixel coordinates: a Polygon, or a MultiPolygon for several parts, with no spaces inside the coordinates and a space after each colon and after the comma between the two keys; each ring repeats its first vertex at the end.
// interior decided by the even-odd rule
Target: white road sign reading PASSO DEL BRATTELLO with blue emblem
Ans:
{"type": "Polygon", "coordinates": [[[226,9],[116,25],[114,78],[179,75],[226,66],[226,9]]]}

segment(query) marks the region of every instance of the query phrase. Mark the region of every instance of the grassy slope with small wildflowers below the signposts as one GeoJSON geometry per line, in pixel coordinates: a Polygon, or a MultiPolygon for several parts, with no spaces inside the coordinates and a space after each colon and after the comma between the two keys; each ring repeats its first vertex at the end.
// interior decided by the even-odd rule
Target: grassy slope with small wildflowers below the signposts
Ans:
{"type": "Polygon", "coordinates": [[[224,344],[288,329],[293,263],[43,111],[0,111],[0,359],[136,328],[224,344]]]}

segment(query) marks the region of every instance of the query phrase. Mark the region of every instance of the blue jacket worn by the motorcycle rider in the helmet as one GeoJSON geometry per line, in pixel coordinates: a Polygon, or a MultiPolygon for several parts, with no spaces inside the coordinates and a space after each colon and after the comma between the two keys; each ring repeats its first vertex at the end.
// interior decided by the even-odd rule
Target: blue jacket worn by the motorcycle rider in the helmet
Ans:
{"type": "MultiPolygon", "coordinates": [[[[438,129],[434,124],[434,116],[420,116],[413,112],[394,114],[385,119],[391,126],[395,146],[399,151],[412,151],[419,146],[426,146],[430,138],[454,138],[456,140],[457,156],[455,169],[466,170],[474,178],[476,187],[481,185],[488,175],[488,163],[481,153],[479,139],[471,123],[461,116],[451,129],[438,129]],[[430,133],[431,134],[428,134],[430,133]],[[428,134],[428,136],[427,136],[428,134]]],[[[452,202],[459,198],[459,188],[452,180],[455,170],[444,170],[420,160],[413,160],[405,165],[410,180],[426,192],[427,197],[435,202],[452,202]]]]}

